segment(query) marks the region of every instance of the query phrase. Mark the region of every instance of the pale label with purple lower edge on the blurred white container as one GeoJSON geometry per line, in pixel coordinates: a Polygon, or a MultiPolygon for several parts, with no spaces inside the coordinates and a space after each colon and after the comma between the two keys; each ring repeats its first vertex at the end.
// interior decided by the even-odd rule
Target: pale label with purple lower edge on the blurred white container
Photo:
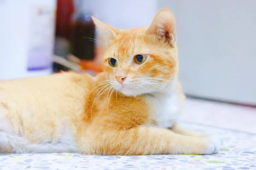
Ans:
{"type": "Polygon", "coordinates": [[[55,6],[33,5],[30,15],[28,71],[52,67],[55,6]]]}

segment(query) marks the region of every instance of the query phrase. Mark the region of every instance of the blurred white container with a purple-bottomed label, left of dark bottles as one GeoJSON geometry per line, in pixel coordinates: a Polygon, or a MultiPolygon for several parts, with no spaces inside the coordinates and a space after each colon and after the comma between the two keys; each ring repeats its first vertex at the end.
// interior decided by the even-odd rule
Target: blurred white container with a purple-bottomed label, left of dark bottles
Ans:
{"type": "Polygon", "coordinates": [[[49,75],[55,0],[0,0],[0,80],[49,75]]]}

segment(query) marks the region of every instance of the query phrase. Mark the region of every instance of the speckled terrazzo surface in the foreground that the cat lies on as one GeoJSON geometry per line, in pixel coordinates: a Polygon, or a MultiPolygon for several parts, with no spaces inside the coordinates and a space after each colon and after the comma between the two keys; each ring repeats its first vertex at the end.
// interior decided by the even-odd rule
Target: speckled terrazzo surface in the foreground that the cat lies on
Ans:
{"type": "Polygon", "coordinates": [[[183,122],[186,128],[222,138],[213,155],[87,156],[76,153],[0,154],[0,170],[256,170],[256,134],[183,122]]]}

